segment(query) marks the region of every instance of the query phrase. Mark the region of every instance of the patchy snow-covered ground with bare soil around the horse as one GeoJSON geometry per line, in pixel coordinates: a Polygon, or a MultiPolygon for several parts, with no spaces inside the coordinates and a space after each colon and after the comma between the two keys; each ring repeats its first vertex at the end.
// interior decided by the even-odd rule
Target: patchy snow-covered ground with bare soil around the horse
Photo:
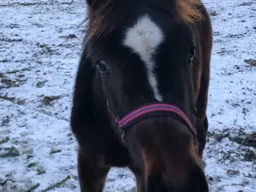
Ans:
{"type": "MultiPolygon", "coordinates": [[[[0,191],[42,191],[65,178],[50,191],[79,191],[69,118],[84,2],[0,2],[0,191]]],[[[203,2],[214,28],[204,151],[210,191],[253,192],[256,1],[203,2]]],[[[134,185],[129,170],[113,168],[105,191],[134,191],[134,185]]]]}

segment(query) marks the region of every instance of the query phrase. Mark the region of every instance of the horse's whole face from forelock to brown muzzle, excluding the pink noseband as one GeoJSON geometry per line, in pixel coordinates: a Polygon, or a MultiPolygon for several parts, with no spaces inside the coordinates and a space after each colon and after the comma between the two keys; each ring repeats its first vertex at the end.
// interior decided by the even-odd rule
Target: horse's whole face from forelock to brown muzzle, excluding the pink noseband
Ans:
{"type": "MultiPolygon", "coordinates": [[[[126,5],[126,1],[110,3],[98,8],[99,14],[90,7],[86,53],[96,71],[94,80],[101,85],[96,83],[97,97],[106,101],[111,118],[122,119],[140,106],[160,102],[178,106],[193,119],[194,84],[201,73],[198,29],[165,11],[142,10],[144,1],[130,2],[138,6],[126,5]],[[150,14],[141,14],[145,12],[150,14]],[[126,13],[132,14],[126,18],[126,13]]],[[[195,139],[186,123],[158,115],[140,118],[130,128],[126,146],[144,172],[146,191],[208,191],[195,139]]]]}

